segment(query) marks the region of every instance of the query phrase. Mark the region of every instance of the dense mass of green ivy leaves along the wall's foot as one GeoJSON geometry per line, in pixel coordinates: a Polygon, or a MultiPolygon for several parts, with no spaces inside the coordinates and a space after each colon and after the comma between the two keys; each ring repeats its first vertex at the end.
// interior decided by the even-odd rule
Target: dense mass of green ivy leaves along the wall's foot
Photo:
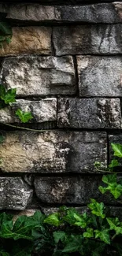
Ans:
{"type": "Polygon", "coordinates": [[[122,255],[122,222],[107,217],[102,202],[91,199],[89,213],[80,214],[74,208],[62,206],[57,213],[46,216],[36,212],[33,216],[0,214],[0,255],[2,256],[69,256],[109,255],[114,249],[122,255]]]}

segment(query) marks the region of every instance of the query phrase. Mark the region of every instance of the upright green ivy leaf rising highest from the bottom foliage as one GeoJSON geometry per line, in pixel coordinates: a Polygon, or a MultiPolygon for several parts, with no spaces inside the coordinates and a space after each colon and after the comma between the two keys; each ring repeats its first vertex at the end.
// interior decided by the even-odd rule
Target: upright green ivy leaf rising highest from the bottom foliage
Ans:
{"type": "Polygon", "coordinates": [[[102,217],[102,219],[105,218],[104,209],[104,203],[103,202],[97,202],[95,199],[91,199],[91,203],[88,205],[89,209],[91,209],[91,213],[98,217],[102,217]]]}

